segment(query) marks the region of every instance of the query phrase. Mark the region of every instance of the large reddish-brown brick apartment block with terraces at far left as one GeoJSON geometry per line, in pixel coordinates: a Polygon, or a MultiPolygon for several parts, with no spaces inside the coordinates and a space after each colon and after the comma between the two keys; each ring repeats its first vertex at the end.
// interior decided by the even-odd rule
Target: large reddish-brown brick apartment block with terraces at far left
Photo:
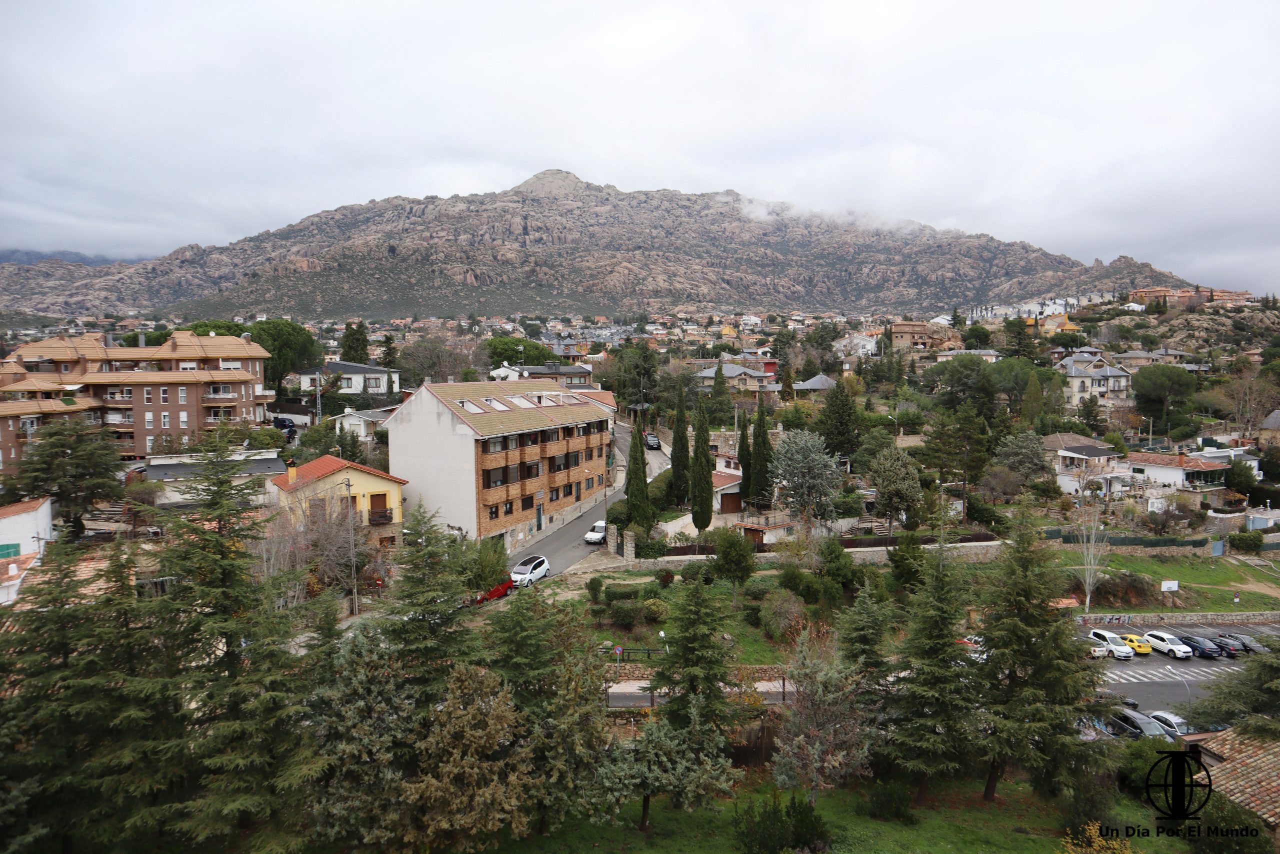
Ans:
{"type": "Polygon", "coordinates": [[[275,399],[262,385],[269,357],[248,334],[189,330],[157,347],[124,347],[100,332],[22,344],[0,362],[0,470],[55,419],[106,425],[131,460],[146,457],[161,433],[262,423],[275,399]]]}

